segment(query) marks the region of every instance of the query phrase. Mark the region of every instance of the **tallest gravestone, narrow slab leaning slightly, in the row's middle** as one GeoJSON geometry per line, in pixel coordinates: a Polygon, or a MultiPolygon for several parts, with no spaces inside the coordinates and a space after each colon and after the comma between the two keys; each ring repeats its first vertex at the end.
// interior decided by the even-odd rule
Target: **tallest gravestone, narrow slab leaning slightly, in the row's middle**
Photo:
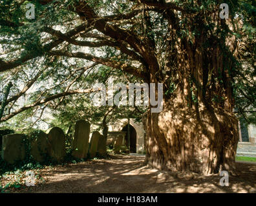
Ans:
{"type": "Polygon", "coordinates": [[[74,141],[72,144],[72,156],[75,158],[87,158],[89,149],[90,123],[85,120],[76,122],[74,141]]]}

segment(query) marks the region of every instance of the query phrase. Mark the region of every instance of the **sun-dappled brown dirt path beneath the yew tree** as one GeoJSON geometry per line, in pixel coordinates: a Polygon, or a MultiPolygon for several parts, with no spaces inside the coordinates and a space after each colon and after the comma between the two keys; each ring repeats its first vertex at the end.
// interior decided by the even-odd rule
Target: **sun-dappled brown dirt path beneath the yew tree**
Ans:
{"type": "Polygon", "coordinates": [[[42,169],[46,183],[17,192],[256,192],[256,164],[237,163],[237,169],[239,176],[221,187],[218,175],[162,173],[146,167],[144,156],[115,156],[42,169]]]}

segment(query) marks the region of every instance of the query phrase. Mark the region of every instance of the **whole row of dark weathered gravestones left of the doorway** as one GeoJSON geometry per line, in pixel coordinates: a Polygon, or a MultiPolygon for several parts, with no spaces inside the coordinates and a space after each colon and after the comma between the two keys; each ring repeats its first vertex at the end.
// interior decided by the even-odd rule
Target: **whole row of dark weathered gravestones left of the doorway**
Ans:
{"type": "MultiPolygon", "coordinates": [[[[107,154],[106,140],[98,131],[92,133],[89,143],[90,124],[85,120],[76,122],[74,140],[72,142],[72,156],[75,158],[94,158],[96,153],[104,157],[107,154]]],[[[3,160],[14,164],[17,160],[25,159],[25,139],[21,134],[9,134],[3,136],[2,154],[3,160]]],[[[37,162],[44,162],[46,156],[52,160],[61,162],[66,155],[65,133],[59,127],[50,129],[48,135],[39,131],[36,138],[30,143],[30,154],[37,162]]]]}

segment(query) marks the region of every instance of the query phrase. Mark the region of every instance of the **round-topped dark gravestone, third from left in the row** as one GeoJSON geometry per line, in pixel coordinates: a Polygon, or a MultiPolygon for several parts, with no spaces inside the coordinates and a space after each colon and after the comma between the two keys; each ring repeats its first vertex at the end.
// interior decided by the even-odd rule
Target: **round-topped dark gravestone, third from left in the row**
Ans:
{"type": "Polygon", "coordinates": [[[53,127],[48,133],[48,154],[57,162],[66,155],[65,133],[59,127],[53,127]]]}

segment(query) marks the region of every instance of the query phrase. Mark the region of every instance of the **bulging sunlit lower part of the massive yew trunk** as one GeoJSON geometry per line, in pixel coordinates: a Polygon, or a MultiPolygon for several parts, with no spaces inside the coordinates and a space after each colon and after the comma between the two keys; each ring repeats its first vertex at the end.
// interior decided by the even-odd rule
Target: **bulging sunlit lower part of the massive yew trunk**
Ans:
{"type": "Polygon", "coordinates": [[[200,108],[169,102],[161,113],[147,115],[146,163],[157,169],[235,174],[239,135],[237,119],[224,109],[200,108]]]}

